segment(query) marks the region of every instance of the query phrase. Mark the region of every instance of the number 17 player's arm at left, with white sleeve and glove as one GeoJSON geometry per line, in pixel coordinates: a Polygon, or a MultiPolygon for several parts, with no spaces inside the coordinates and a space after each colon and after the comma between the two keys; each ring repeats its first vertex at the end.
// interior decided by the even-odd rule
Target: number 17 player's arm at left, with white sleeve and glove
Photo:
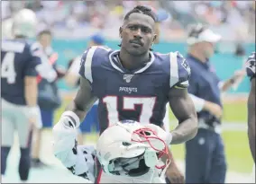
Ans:
{"type": "MultiPolygon", "coordinates": [[[[67,168],[73,168],[78,175],[77,128],[85,118],[87,111],[97,100],[92,92],[91,64],[95,49],[89,48],[81,57],[80,83],[78,93],[61,115],[59,122],[53,127],[53,152],[67,168]]],[[[86,163],[87,161],[83,159],[86,163]]],[[[82,161],[80,161],[82,162],[82,161]]],[[[85,169],[85,168],[84,168],[85,169]]],[[[86,172],[86,171],[84,171],[86,172]]]]}

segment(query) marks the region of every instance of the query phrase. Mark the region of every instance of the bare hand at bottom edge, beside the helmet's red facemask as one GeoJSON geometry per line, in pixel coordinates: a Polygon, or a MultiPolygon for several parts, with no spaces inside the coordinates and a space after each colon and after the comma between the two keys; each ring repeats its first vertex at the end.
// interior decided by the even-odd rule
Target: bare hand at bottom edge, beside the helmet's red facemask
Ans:
{"type": "Polygon", "coordinates": [[[178,170],[176,163],[171,162],[166,171],[166,177],[170,183],[185,183],[184,175],[178,170]]]}

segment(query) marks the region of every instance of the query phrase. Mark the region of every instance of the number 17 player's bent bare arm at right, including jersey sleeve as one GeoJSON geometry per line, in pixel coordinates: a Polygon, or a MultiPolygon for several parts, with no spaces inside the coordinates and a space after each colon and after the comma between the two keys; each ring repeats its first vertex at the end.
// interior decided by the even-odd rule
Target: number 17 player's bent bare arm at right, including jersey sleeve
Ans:
{"type": "Polygon", "coordinates": [[[173,71],[170,77],[169,106],[175,117],[178,119],[178,127],[171,131],[171,145],[182,144],[194,138],[197,135],[198,120],[195,105],[188,92],[188,79],[190,76],[190,67],[184,57],[177,54],[172,59],[170,66],[178,66],[177,72],[173,71]],[[177,80],[177,83],[171,85],[171,80],[177,80]]]}

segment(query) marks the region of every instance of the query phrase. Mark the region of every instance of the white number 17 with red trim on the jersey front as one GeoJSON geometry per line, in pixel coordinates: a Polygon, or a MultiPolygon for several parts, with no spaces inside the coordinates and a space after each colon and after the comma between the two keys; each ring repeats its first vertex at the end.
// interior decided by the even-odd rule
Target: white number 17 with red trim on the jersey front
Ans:
{"type": "MultiPolygon", "coordinates": [[[[109,123],[120,121],[118,113],[118,97],[106,96],[105,102],[109,123]]],[[[156,97],[123,97],[123,110],[135,110],[136,105],[142,106],[139,122],[142,124],[151,123],[151,116],[155,106],[156,97]]]]}

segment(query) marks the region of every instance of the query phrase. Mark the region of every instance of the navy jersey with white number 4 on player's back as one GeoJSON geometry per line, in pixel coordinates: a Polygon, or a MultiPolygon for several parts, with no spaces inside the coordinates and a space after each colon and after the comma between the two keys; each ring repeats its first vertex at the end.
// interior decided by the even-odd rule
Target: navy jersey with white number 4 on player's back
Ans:
{"type": "Polygon", "coordinates": [[[36,76],[41,48],[24,39],[4,39],[1,48],[1,96],[5,101],[26,105],[24,77],[36,76]]]}

